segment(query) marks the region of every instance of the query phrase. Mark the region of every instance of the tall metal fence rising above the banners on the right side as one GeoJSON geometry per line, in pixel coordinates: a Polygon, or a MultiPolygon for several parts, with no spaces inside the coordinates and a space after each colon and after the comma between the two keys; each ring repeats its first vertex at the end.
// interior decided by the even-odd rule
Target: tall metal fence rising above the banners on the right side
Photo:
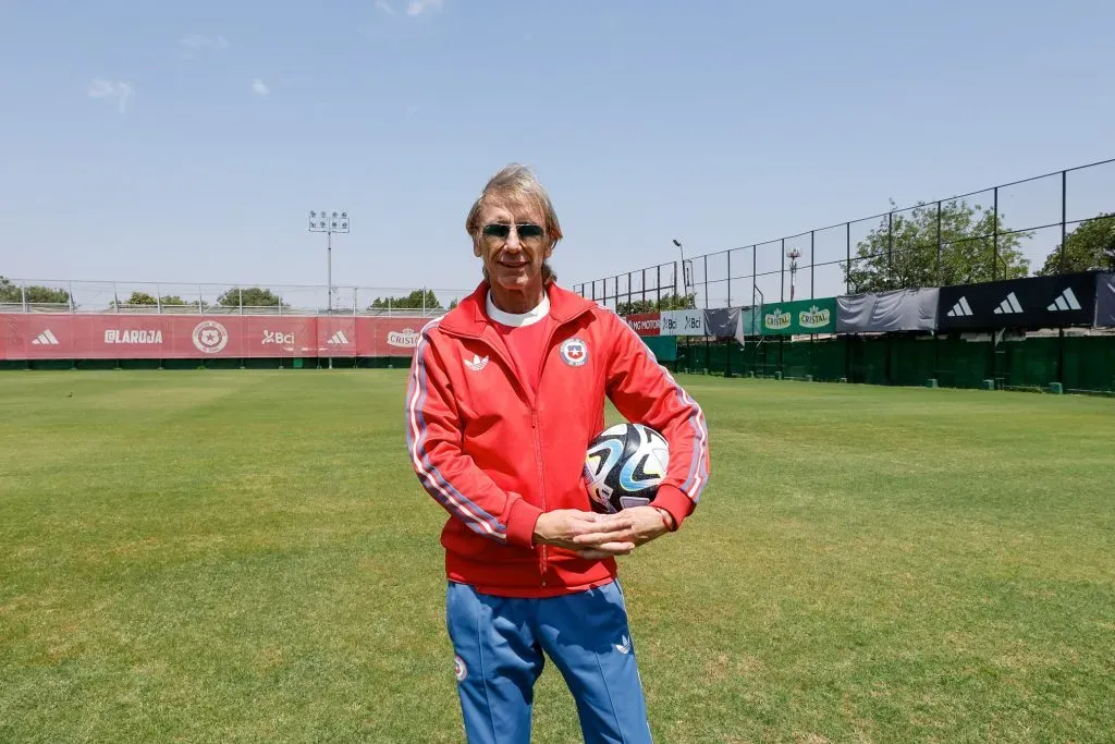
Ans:
{"type": "Polygon", "coordinates": [[[755,305],[759,294],[780,302],[1014,278],[1047,261],[1057,272],[1073,230],[1108,220],[1115,158],[683,258],[683,272],[681,261],[668,261],[573,289],[615,309],[675,296],[715,308],[755,305]]]}

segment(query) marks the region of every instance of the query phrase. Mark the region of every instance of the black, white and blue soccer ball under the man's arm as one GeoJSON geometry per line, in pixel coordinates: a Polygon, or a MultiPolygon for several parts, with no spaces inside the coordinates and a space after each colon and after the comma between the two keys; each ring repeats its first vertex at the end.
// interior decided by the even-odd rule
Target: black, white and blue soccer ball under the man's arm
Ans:
{"type": "Polygon", "coordinates": [[[605,514],[646,506],[666,477],[670,447],[642,424],[617,424],[592,438],[584,456],[584,485],[594,511],[605,514]]]}

